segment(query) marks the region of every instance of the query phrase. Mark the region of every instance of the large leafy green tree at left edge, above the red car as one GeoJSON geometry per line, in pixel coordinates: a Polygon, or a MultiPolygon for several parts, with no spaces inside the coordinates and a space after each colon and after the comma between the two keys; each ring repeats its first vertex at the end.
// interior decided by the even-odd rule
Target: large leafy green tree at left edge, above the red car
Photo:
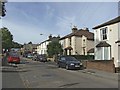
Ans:
{"type": "Polygon", "coordinates": [[[6,27],[3,27],[0,30],[0,35],[2,37],[2,48],[10,49],[12,47],[13,40],[13,35],[11,32],[6,27]]]}

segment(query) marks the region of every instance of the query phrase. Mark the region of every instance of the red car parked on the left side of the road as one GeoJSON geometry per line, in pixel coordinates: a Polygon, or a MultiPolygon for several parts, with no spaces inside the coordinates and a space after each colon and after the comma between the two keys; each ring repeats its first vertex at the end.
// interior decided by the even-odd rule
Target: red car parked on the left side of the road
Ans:
{"type": "Polygon", "coordinates": [[[16,52],[10,53],[7,60],[8,60],[8,63],[17,63],[17,64],[20,63],[20,57],[16,52]]]}

